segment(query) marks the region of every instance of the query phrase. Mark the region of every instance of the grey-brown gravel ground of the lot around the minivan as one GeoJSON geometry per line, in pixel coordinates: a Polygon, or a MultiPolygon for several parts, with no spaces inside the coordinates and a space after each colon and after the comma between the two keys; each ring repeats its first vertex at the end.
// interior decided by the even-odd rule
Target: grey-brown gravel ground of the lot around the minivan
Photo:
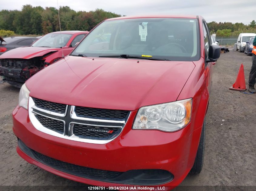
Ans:
{"type": "MultiPolygon", "coordinates": [[[[200,174],[188,175],[182,186],[245,186],[243,190],[256,189],[256,94],[228,89],[234,83],[242,62],[248,85],[251,56],[231,49],[230,53],[221,54],[214,66],[206,117],[204,167],[200,174]]],[[[0,185],[82,186],[28,164],[16,153],[17,139],[12,132],[11,113],[18,104],[18,94],[18,88],[0,84],[0,185]]]]}

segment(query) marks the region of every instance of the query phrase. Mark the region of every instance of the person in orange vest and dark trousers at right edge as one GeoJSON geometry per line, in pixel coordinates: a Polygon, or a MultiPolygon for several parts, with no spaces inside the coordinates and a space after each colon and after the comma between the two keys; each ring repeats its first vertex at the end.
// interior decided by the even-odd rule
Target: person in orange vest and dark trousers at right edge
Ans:
{"type": "Polygon", "coordinates": [[[253,48],[252,48],[252,66],[251,66],[251,72],[249,74],[249,92],[251,93],[256,93],[254,85],[256,82],[256,36],[254,38],[254,41],[252,43],[253,48]]]}

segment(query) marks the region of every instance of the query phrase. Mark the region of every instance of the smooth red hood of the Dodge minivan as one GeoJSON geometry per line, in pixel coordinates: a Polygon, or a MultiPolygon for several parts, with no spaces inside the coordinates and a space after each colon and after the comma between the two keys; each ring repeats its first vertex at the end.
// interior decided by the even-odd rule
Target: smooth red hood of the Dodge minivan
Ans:
{"type": "Polygon", "coordinates": [[[67,56],[38,72],[30,96],[82,107],[137,110],[175,101],[193,62],[67,56]]]}

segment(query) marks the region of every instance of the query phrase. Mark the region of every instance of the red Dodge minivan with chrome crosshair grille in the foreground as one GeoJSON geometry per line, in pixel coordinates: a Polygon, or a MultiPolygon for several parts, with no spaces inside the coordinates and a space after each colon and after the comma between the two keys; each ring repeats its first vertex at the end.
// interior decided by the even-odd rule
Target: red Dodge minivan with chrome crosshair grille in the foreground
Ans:
{"type": "Polygon", "coordinates": [[[96,186],[177,186],[200,173],[213,65],[201,16],[101,22],[22,86],[17,152],[96,186]]]}

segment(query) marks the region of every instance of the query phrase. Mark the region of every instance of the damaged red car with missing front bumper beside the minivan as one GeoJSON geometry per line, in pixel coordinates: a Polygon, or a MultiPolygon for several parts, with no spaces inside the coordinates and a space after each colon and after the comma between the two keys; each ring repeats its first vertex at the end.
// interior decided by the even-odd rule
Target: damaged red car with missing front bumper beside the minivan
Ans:
{"type": "Polygon", "coordinates": [[[88,31],[49,33],[31,46],[12,49],[0,56],[0,76],[15,87],[46,66],[67,56],[88,31]]]}

